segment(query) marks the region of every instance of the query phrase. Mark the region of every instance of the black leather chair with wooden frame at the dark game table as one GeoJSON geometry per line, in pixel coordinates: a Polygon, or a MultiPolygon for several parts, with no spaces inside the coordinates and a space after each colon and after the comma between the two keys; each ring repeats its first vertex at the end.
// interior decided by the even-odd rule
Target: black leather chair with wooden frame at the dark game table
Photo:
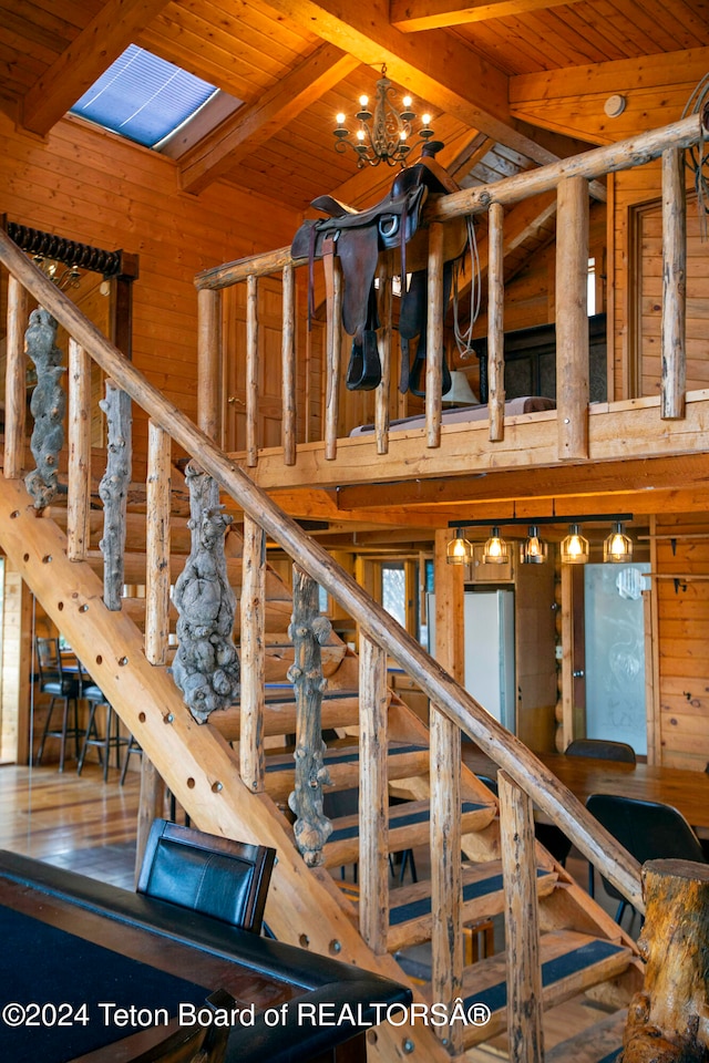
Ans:
{"type": "Polygon", "coordinates": [[[155,819],[138,894],[260,933],[276,850],[155,819]]]}

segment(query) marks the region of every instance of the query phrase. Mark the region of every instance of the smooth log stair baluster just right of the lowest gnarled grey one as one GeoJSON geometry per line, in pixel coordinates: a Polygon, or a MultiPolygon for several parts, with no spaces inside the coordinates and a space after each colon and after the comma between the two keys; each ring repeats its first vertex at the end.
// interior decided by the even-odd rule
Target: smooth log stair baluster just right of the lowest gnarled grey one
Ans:
{"type": "Polygon", "coordinates": [[[387,654],[364,636],[359,702],[359,926],[370,949],[383,954],[389,929],[387,654]]]}

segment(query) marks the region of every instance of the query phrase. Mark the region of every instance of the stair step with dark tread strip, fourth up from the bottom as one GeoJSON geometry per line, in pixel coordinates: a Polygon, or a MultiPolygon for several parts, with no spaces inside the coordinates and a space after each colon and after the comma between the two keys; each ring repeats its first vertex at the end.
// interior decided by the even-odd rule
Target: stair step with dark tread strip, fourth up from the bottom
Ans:
{"type": "MultiPolygon", "coordinates": [[[[486,827],[494,813],[494,806],[472,801],[462,802],[463,834],[472,834],[486,827]]],[[[430,818],[431,807],[428,801],[407,801],[401,805],[391,805],[389,808],[390,853],[400,853],[414,845],[428,844],[430,818]]],[[[332,834],[322,852],[326,867],[339,867],[340,864],[352,864],[359,859],[359,816],[342,816],[335,819],[332,834]]]]}

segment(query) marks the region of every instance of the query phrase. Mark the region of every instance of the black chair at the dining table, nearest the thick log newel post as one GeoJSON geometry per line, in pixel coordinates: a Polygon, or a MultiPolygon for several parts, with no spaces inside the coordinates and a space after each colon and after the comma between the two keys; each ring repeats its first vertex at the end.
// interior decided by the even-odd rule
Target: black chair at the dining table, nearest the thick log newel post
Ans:
{"type": "MultiPolygon", "coordinates": [[[[699,838],[681,812],[671,805],[616,794],[590,794],[586,807],[640,864],[666,859],[707,863],[699,838]]],[[[590,865],[592,875],[593,870],[590,865]]],[[[608,896],[619,901],[616,922],[620,922],[628,901],[605,878],[602,881],[608,896]]]]}

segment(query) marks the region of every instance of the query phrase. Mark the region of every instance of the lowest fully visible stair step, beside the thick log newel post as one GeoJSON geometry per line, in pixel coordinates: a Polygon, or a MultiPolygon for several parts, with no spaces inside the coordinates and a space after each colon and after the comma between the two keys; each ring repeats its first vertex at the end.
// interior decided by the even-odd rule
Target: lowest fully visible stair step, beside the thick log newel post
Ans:
{"type": "MultiPolygon", "coordinates": [[[[592,985],[615,978],[627,970],[633,953],[625,946],[574,930],[554,930],[540,941],[543,1007],[555,1008],[592,985]]],[[[507,1021],[506,953],[480,960],[464,971],[463,1007],[486,1004],[490,1021],[463,1028],[466,1049],[503,1033],[507,1021]]]]}

